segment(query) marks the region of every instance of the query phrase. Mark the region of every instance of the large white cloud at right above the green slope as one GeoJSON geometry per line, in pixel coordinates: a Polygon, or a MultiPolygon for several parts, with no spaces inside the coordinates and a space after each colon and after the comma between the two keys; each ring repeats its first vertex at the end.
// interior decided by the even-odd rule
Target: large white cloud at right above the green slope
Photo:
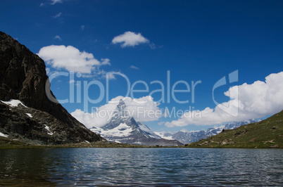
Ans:
{"type": "Polygon", "coordinates": [[[241,121],[273,115],[283,110],[283,72],[265,77],[265,82],[233,86],[225,91],[230,100],[220,105],[229,106],[224,112],[220,106],[206,108],[201,111],[186,112],[180,119],[166,122],[167,127],[183,127],[189,124],[210,125],[224,122],[241,121]],[[238,91],[238,98],[234,97],[238,91]],[[239,106],[239,107],[238,107],[239,106]],[[238,111],[237,116],[231,115],[238,111]],[[201,114],[196,116],[194,114],[201,114]]]}

